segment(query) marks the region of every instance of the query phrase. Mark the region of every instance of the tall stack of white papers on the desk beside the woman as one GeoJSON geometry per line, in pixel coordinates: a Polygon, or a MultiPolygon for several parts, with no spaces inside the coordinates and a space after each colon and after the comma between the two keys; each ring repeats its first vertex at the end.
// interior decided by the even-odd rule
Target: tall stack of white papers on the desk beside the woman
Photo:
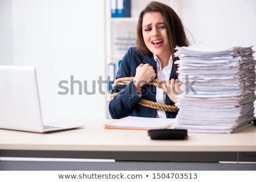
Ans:
{"type": "Polygon", "coordinates": [[[216,48],[204,43],[176,47],[181,83],[176,128],[233,133],[253,125],[255,60],[252,46],[216,48]]]}

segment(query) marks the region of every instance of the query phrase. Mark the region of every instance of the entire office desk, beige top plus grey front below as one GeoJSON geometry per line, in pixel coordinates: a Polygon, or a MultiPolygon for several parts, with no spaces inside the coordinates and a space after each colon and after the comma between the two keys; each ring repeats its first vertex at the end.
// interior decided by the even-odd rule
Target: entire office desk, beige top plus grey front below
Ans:
{"type": "MultiPolygon", "coordinates": [[[[170,170],[181,166],[180,170],[256,170],[256,127],[245,129],[235,134],[188,133],[183,141],[155,141],[144,130],[104,129],[106,120],[61,121],[84,124],[85,127],[56,133],[39,134],[0,129],[0,158],[79,158],[79,159],[114,159],[115,163],[93,163],[94,170],[144,170],[145,165],[159,164],[159,170],[170,170]],[[233,162],[233,164],[218,162],[233,162]],[[148,163],[152,162],[152,163],[148,163]],[[242,162],[242,163],[238,163],[242,162]],[[134,165],[136,163],[136,165],[134,165]],[[98,164],[98,166],[97,166],[98,164]],[[120,164],[122,164],[120,166],[120,164]],[[132,166],[129,166],[129,164],[132,166]],[[192,168],[186,166],[192,165],[192,168]],[[209,167],[205,168],[205,164],[209,167]],[[106,168],[104,168],[104,165],[106,168]],[[139,166],[141,165],[141,168],[139,166]],[[184,166],[185,165],[185,166],[184,166]],[[202,166],[203,165],[203,166],[202,166]],[[97,166],[97,167],[96,167],[97,166]],[[197,168],[195,168],[197,166],[197,168]]],[[[49,163],[49,162],[48,162],[49,163]]],[[[51,163],[51,162],[50,162],[51,163]]],[[[92,163],[67,163],[78,170],[80,167],[92,170],[92,163]],[[88,164],[86,168],[85,164],[88,164]],[[79,166],[77,166],[79,165],[79,166]]],[[[0,170],[24,167],[35,169],[40,163],[0,162],[0,170]],[[31,165],[31,166],[29,166],[31,165]]],[[[56,170],[69,170],[55,162],[56,170]]],[[[52,164],[51,164],[52,165],[52,164]]],[[[54,166],[54,165],[53,165],[54,166]]],[[[152,166],[153,167],[153,166],[152,166]]],[[[42,168],[37,168],[41,170],[42,168]]],[[[153,169],[147,167],[147,169],[153,169]]]]}

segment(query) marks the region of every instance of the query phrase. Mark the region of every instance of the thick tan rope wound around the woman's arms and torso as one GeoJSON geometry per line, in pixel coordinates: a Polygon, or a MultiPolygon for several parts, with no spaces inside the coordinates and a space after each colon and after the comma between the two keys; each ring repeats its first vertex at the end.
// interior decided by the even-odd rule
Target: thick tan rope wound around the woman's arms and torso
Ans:
{"type": "MultiPolygon", "coordinates": [[[[115,80],[112,87],[114,88],[115,86],[119,86],[119,85],[126,86],[131,81],[133,81],[133,77],[118,78],[118,79],[115,80]]],[[[158,79],[154,79],[153,81],[151,81],[148,84],[159,87],[159,88],[163,88],[164,82],[159,81],[158,79]]],[[[110,101],[113,100],[115,96],[119,95],[119,93],[120,92],[115,92],[115,93],[111,94],[110,95],[110,101]]],[[[179,109],[175,105],[160,104],[160,103],[156,103],[155,101],[150,101],[150,100],[146,100],[146,99],[139,100],[138,104],[142,105],[144,107],[148,107],[148,108],[152,108],[152,109],[158,109],[158,110],[162,110],[162,111],[168,111],[168,112],[177,112],[177,111],[179,111],[179,109]]]]}

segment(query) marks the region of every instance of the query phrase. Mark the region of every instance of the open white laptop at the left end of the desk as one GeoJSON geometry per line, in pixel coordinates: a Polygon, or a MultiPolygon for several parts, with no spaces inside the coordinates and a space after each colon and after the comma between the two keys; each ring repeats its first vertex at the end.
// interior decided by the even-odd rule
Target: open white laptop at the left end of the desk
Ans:
{"type": "Polygon", "coordinates": [[[82,125],[43,125],[36,69],[0,65],[0,128],[47,133],[82,125]]]}

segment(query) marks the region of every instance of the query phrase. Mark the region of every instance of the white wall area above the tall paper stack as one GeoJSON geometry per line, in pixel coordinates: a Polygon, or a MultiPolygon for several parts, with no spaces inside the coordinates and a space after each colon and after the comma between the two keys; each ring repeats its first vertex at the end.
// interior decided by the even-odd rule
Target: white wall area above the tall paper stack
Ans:
{"type": "Polygon", "coordinates": [[[195,41],[256,46],[255,0],[179,0],[178,14],[195,41]]]}

